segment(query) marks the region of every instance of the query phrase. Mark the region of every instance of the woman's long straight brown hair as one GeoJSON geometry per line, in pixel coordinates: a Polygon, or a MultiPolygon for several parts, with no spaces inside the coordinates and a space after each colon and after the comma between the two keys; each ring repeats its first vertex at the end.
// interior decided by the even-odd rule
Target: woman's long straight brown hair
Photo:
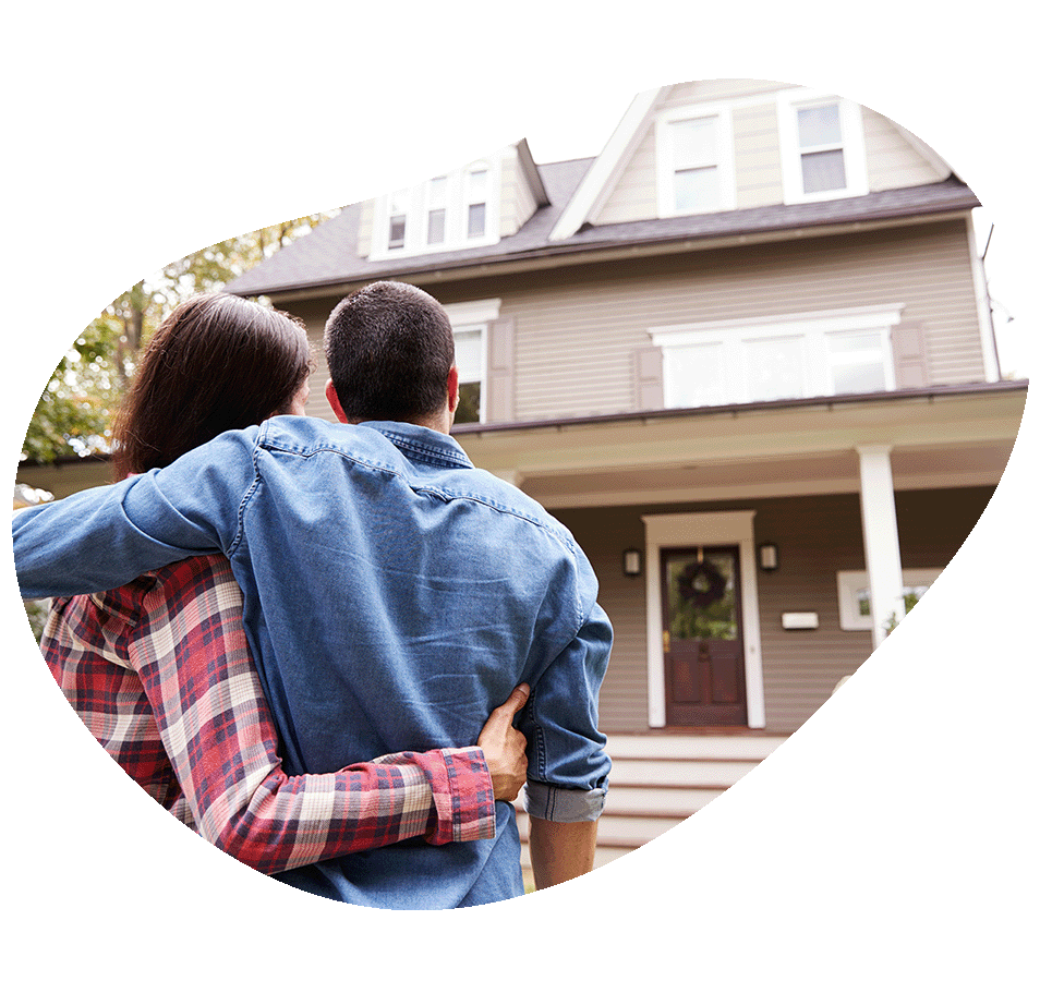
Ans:
{"type": "Polygon", "coordinates": [[[117,480],[287,412],[310,370],[300,320],[226,293],[193,296],[158,327],[120,405],[117,480]]]}

